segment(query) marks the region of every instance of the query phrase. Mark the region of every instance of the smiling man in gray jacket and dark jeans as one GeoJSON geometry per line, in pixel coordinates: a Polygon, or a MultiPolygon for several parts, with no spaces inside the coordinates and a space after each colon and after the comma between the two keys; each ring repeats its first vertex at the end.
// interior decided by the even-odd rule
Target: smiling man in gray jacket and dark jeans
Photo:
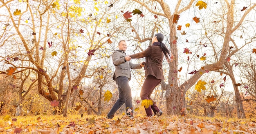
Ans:
{"type": "Polygon", "coordinates": [[[130,62],[130,56],[126,56],[126,53],[124,53],[127,49],[126,41],[119,41],[118,48],[119,50],[116,50],[112,54],[112,61],[115,65],[113,80],[115,80],[118,85],[119,98],[108,113],[108,119],[112,119],[115,112],[117,112],[124,103],[126,106],[126,114],[131,118],[133,117],[132,91],[129,86],[129,81],[131,80],[130,69],[141,69],[144,67],[142,63],[132,64],[130,62]]]}

